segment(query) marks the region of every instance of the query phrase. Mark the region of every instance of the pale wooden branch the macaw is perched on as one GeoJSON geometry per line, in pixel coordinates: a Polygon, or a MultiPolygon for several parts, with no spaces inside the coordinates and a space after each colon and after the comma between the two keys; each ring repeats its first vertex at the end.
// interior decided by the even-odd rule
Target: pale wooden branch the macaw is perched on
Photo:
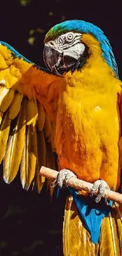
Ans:
{"type": "MultiPolygon", "coordinates": [[[[40,169],[39,174],[41,176],[45,176],[46,178],[48,178],[50,180],[56,180],[58,172],[53,170],[53,169],[49,169],[49,168],[46,168],[46,167],[42,166],[42,168],[40,169]]],[[[65,183],[65,181],[64,181],[64,183],[65,183]]],[[[79,180],[75,177],[72,177],[68,181],[68,186],[74,187],[78,190],[83,190],[83,191],[87,191],[88,193],[91,193],[91,189],[92,189],[93,184],[91,184],[87,181],[79,180]]],[[[96,195],[97,194],[98,194],[98,192],[96,193],[96,195]]],[[[115,192],[115,191],[110,191],[109,189],[105,189],[104,194],[102,195],[102,197],[122,204],[122,195],[120,193],[115,192]]]]}

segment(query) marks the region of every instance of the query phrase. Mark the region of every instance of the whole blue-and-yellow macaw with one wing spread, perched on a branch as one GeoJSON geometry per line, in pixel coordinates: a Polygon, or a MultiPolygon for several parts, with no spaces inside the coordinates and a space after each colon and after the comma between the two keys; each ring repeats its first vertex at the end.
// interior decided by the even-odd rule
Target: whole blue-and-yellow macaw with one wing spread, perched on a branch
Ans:
{"type": "Polygon", "coordinates": [[[43,58],[47,69],[0,42],[3,179],[20,170],[22,187],[41,191],[40,167],[57,165],[59,187],[63,176],[93,183],[91,195],[68,187],[64,255],[122,255],[122,207],[102,198],[121,185],[122,83],[112,47],[94,24],[68,20],[47,32],[43,58]]]}

